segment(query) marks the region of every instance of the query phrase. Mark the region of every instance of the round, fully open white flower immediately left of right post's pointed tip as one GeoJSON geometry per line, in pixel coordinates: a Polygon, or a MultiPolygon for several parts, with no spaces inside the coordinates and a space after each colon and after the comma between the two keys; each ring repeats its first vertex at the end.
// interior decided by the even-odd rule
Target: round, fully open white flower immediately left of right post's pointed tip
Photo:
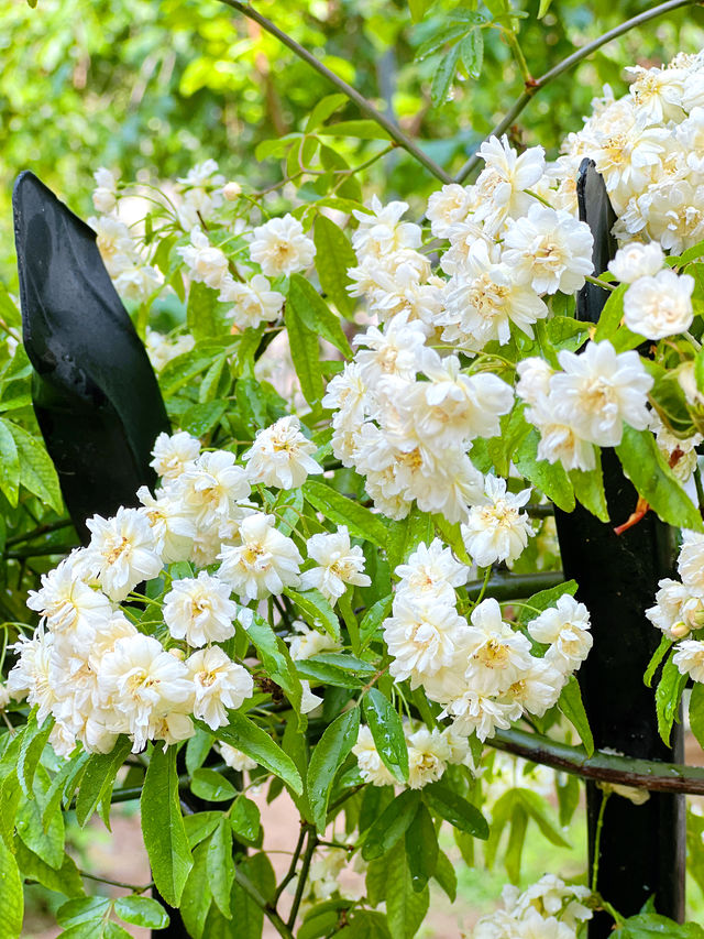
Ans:
{"type": "Polygon", "coordinates": [[[527,216],[510,222],[503,260],[536,293],[571,294],[594,270],[593,241],[588,226],[569,212],[534,205],[527,216]]]}

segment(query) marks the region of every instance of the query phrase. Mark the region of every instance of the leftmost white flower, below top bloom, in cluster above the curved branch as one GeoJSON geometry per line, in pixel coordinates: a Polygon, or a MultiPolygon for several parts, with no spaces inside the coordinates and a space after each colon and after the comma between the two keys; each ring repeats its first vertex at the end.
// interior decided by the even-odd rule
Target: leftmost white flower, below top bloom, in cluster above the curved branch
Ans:
{"type": "Polygon", "coordinates": [[[468,631],[466,620],[452,607],[404,593],[395,597],[393,616],[382,626],[388,654],[394,658],[391,674],[397,681],[410,678],[411,687],[450,665],[468,631]]]}

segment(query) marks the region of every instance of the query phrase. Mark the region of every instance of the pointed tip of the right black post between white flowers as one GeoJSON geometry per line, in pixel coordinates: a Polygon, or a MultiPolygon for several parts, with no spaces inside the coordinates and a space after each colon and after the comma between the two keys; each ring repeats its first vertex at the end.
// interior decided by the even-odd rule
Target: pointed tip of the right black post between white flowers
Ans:
{"type": "MultiPolygon", "coordinates": [[[[592,261],[594,276],[597,277],[606,271],[618,247],[612,234],[616,223],[616,212],[608,198],[604,177],[596,172],[596,164],[588,157],[580,164],[580,173],[576,177],[576,201],[580,220],[588,225],[594,236],[592,261]]],[[[576,318],[587,323],[598,323],[607,299],[608,291],[595,284],[584,284],[576,296],[576,318]]]]}

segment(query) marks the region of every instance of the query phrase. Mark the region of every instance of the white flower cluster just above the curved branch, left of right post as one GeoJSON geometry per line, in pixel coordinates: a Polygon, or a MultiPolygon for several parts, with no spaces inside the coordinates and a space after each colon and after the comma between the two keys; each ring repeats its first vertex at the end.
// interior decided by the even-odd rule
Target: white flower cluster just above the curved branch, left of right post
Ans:
{"type": "Polygon", "coordinates": [[[396,572],[382,624],[389,672],[442,705],[458,736],[486,740],[524,713],[544,714],[592,646],[588,612],[569,594],[528,623],[530,638],[504,621],[494,599],[477,603],[468,622],[455,588],[469,568],[438,539],[420,544],[396,572]]]}

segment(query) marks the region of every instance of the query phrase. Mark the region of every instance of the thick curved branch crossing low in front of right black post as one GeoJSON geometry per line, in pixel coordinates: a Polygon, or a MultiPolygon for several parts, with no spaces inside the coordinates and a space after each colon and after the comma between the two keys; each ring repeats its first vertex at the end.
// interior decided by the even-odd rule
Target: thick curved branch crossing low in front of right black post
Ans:
{"type": "Polygon", "coordinates": [[[616,756],[600,750],[594,756],[587,756],[580,747],[568,746],[565,743],[557,743],[540,734],[520,730],[498,730],[486,743],[496,750],[504,750],[515,756],[530,760],[531,763],[551,766],[583,779],[631,786],[652,793],[704,795],[702,766],[616,756]]]}

